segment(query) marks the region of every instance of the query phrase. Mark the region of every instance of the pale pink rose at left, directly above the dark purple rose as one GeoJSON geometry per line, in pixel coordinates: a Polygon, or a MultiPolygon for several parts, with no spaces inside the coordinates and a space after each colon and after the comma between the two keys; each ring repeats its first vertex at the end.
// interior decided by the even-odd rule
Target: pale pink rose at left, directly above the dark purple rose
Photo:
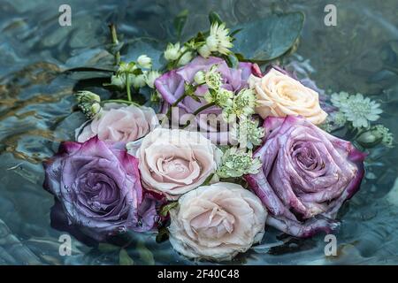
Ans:
{"type": "Polygon", "coordinates": [[[149,107],[106,103],[100,114],[76,130],[76,141],[86,142],[98,135],[103,142],[134,142],[158,123],[155,111],[149,107]]]}

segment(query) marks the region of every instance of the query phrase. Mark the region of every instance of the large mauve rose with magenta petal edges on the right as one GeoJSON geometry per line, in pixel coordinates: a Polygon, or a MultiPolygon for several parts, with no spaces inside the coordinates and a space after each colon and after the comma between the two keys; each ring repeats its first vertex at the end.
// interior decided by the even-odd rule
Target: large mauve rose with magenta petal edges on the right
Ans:
{"type": "Polygon", "coordinates": [[[301,117],[269,117],[264,128],[254,154],[263,168],[245,178],[270,212],[267,224],[297,237],[330,233],[360,187],[365,154],[301,117]]]}

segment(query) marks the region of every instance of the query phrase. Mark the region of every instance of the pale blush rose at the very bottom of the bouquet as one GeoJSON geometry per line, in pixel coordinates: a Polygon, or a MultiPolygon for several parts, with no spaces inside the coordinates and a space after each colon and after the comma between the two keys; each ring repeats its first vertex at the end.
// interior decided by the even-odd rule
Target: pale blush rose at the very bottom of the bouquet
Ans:
{"type": "Polygon", "coordinates": [[[189,258],[224,261],[263,239],[267,212],[249,190],[220,182],[182,195],[170,215],[172,248],[189,258]]]}

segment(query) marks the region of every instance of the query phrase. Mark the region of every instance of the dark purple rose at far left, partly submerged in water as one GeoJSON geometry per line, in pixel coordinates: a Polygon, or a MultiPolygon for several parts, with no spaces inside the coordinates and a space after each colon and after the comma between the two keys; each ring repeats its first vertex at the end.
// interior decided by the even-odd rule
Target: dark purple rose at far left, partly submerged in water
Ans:
{"type": "Polygon", "coordinates": [[[61,221],[64,213],[69,226],[97,241],[154,226],[155,202],[144,197],[138,161],[126,150],[97,137],[84,143],[62,142],[57,155],[43,166],[43,187],[55,195],[54,208],[62,210],[52,211],[52,221],[61,221]]]}

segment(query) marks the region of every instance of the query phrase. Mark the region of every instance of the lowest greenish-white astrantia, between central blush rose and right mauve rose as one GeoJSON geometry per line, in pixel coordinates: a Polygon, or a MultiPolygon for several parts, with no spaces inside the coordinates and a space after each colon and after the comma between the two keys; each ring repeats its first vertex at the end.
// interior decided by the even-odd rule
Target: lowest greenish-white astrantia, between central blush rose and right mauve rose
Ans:
{"type": "Polygon", "coordinates": [[[253,158],[251,150],[232,147],[226,149],[217,174],[219,178],[236,178],[245,174],[256,174],[260,168],[260,159],[253,158]]]}

